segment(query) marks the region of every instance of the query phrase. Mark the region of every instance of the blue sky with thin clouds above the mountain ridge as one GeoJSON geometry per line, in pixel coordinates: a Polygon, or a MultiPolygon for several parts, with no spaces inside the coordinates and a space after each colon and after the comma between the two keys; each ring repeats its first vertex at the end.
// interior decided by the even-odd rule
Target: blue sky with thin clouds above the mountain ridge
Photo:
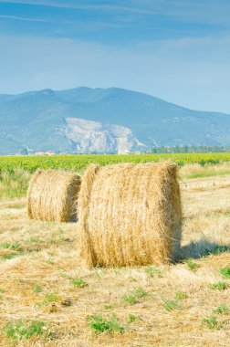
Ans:
{"type": "Polygon", "coordinates": [[[0,0],[0,93],[120,87],[230,113],[229,0],[0,0]]]}

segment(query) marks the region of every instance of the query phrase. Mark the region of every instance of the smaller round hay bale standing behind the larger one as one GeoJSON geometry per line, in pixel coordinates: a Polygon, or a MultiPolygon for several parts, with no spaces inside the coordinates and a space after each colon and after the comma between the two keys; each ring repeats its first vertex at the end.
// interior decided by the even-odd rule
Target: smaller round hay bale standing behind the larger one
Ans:
{"type": "Polygon", "coordinates": [[[57,222],[76,221],[80,181],[78,174],[37,170],[27,191],[28,217],[57,222]]]}

